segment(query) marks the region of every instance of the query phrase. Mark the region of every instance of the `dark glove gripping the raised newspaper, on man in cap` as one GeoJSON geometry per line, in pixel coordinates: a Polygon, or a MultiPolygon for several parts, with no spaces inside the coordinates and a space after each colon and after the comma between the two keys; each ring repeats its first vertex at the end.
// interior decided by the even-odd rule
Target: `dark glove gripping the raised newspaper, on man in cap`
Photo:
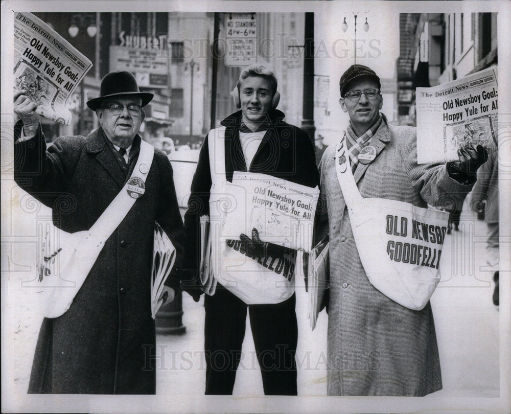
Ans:
{"type": "Polygon", "coordinates": [[[447,163],[449,177],[460,184],[472,184],[476,180],[477,169],[488,159],[488,153],[482,145],[465,145],[458,149],[458,161],[447,163]]]}

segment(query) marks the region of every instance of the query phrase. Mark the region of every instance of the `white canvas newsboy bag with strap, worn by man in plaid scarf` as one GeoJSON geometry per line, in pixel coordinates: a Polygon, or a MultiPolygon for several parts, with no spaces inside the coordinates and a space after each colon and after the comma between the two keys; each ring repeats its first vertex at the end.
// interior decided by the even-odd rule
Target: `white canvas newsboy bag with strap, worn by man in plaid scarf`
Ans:
{"type": "Polygon", "coordinates": [[[383,198],[363,198],[345,137],[336,171],[362,266],[369,282],[400,305],[423,309],[440,281],[440,257],[449,213],[383,198]]]}

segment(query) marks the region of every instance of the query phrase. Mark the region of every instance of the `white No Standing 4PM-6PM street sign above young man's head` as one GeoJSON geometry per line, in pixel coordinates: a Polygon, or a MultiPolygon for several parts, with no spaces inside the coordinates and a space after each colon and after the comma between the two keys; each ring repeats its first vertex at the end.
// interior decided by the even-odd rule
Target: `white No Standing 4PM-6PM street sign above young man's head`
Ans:
{"type": "Polygon", "coordinates": [[[248,66],[257,60],[257,20],[229,18],[225,25],[226,66],[248,66]]]}

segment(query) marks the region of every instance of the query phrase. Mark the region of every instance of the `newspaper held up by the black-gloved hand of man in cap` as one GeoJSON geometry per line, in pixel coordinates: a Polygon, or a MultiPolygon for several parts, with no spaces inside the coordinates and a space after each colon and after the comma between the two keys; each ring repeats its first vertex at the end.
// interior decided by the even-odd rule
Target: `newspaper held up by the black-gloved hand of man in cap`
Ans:
{"type": "Polygon", "coordinates": [[[464,144],[497,149],[497,66],[415,95],[419,164],[456,160],[464,144]]]}

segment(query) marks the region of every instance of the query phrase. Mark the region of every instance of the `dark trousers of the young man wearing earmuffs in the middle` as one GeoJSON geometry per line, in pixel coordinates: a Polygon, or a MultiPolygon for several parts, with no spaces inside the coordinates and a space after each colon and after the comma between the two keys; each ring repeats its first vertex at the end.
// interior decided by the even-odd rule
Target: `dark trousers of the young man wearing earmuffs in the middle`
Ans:
{"type": "Polygon", "coordinates": [[[247,308],[264,394],[297,395],[295,303],[293,293],[279,304],[247,305],[221,285],[205,296],[206,395],[232,395],[240,360],[251,367],[251,358],[241,354],[247,308]]]}

